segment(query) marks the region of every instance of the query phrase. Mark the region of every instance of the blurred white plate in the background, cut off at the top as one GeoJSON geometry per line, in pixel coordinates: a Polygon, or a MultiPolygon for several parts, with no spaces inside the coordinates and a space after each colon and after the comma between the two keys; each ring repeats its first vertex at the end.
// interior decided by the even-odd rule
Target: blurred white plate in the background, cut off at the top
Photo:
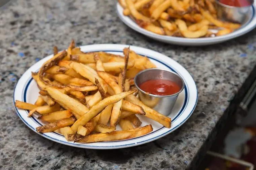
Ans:
{"type": "Polygon", "coordinates": [[[229,39],[233,39],[255,28],[256,26],[255,7],[256,7],[256,1],[251,6],[250,11],[248,12],[248,17],[246,18],[246,22],[243,24],[243,26],[240,29],[237,29],[234,32],[227,35],[208,37],[208,38],[183,38],[183,37],[159,35],[141,28],[129,16],[124,16],[123,8],[119,3],[116,4],[116,11],[119,18],[127,26],[155,40],[162,41],[164,43],[169,43],[169,44],[181,45],[181,46],[206,46],[206,45],[221,43],[229,39]]]}

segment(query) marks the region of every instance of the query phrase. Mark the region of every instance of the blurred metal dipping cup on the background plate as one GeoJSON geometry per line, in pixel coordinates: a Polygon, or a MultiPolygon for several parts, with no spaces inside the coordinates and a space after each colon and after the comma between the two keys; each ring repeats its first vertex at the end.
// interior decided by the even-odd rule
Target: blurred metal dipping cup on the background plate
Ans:
{"type": "Polygon", "coordinates": [[[254,0],[246,0],[250,5],[243,7],[229,6],[221,3],[219,0],[216,2],[216,10],[218,18],[244,24],[249,20],[248,11],[251,8],[254,0]]]}

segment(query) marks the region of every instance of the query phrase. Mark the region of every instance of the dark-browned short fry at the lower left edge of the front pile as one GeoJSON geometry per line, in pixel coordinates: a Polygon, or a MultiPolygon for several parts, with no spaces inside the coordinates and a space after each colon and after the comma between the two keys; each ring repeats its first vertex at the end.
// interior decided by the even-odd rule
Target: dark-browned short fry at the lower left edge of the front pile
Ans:
{"type": "Polygon", "coordinates": [[[46,124],[44,126],[36,127],[36,131],[39,133],[53,132],[62,127],[72,125],[75,121],[76,121],[76,118],[74,117],[65,118],[53,123],[46,124]]]}

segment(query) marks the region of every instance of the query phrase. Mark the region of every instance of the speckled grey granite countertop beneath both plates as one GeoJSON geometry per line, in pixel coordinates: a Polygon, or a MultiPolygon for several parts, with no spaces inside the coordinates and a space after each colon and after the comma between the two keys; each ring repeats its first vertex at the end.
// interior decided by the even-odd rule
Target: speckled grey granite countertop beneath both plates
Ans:
{"type": "Polygon", "coordinates": [[[202,160],[230,100],[255,66],[255,30],[219,45],[172,46],[124,25],[115,3],[17,0],[0,10],[0,169],[186,169],[202,160]],[[53,45],[66,49],[72,38],[78,46],[129,44],[176,60],[196,81],[194,113],[174,133],[126,149],[73,148],[37,135],[15,114],[14,85],[31,65],[52,54],[53,45]]]}

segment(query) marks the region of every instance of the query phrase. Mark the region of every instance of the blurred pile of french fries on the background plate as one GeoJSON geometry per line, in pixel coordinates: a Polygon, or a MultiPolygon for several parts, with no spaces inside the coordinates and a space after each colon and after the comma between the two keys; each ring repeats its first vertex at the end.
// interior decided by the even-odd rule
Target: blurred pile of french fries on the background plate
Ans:
{"type": "Polygon", "coordinates": [[[160,35],[214,37],[241,27],[217,18],[215,0],[119,0],[119,4],[125,16],[160,35]]]}

